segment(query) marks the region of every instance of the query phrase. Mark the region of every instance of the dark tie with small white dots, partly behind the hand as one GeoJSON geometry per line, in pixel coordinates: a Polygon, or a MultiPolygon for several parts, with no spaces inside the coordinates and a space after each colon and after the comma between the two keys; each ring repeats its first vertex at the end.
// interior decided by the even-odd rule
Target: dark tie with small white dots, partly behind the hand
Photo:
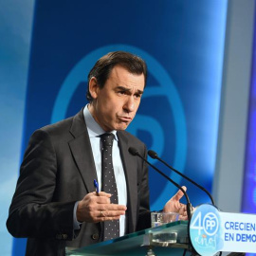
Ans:
{"type": "MultiPolygon", "coordinates": [[[[113,134],[101,135],[102,191],[111,193],[112,204],[119,204],[119,195],[112,161],[113,134]]],[[[103,222],[103,241],[119,237],[119,220],[103,222]]]]}

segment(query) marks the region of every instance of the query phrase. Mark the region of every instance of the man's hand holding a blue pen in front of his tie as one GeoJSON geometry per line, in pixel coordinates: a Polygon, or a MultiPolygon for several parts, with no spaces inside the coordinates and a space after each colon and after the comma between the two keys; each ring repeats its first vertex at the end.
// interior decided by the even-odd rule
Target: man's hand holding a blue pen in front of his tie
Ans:
{"type": "Polygon", "coordinates": [[[111,204],[110,193],[87,193],[78,204],[77,220],[79,222],[101,222],[119,220],[125,214],[126,206],[111,204]]]}

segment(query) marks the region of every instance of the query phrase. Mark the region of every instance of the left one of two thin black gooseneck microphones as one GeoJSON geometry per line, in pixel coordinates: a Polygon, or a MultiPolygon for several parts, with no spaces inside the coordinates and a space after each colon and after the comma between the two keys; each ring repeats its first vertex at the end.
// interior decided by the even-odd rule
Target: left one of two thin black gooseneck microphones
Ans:
{"type": "Polygon", "coordinates": [[[169,176],[167,176],[166,174],[162,173],[160,170],[158,170],[153,164],[151,164],[146,158],[144,158],[142,155],[140,155],[137,151],[137,149],[133,148],[133,147],[130,147],[128,149],[129,153],[131,155],[137,155],[138,157],[140,157],[143,161],[145,161],[148,165],[150,165],[153,169],[155,169],[155,171],[158,173],[158,174],[161,174],[162,176],[164,176],[166,179],[168,179],[170,182],[172,182],[174,184],[175,187],[177,187],[179,190],[181,190],[186,199],[187,199],[187,212],[188,212],[188,219],[189,221],[191,220],[191,217],[192,217],[192,204],[190,202],[190,199],[189,199],[189,196],[188,196],[188,193],[184,191],[184,189],[179,186],[176,182],[174,182],[173,179],[171,179],[169,176]]]}

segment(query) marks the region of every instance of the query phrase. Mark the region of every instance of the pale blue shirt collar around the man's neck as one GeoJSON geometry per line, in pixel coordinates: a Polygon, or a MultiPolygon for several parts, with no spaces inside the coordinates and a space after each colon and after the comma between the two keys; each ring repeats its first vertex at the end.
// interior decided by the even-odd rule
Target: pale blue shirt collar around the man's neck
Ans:
{"type": "MultiPolygon", "coordinates": [[[[87,125],[89,137],[100,137],[102,134],[105,134],[105,131],[101,128],[101,125],[93,118],[92,114],[90,113],[88,104],[86,104],[83,108],[83,117],[87,125]]],[[[116,140],[119,140],[116,130],[111,131],[111,133],[115,136],[116,140]]]]}

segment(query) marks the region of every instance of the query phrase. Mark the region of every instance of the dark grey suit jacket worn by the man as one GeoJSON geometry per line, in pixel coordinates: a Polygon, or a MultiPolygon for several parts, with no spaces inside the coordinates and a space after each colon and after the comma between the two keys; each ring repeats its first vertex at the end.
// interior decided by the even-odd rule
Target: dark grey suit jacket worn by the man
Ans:
{"type": "MultiPolygon", "coordinates": [[[[148,170],[128,153],[135,147],[146,157],[145,145],[125,131],[118,132],[126,175],[127,232],[150,227],[148,170]]],[[[101,223],[73,229],[76,201],[94,192],[97,178],[82,111],[37,130],[21,165],[7,227],[15,237],[27,237],[26,255],[64,255],[64,247],[85,247],[101,240],[101,223]]]]}

